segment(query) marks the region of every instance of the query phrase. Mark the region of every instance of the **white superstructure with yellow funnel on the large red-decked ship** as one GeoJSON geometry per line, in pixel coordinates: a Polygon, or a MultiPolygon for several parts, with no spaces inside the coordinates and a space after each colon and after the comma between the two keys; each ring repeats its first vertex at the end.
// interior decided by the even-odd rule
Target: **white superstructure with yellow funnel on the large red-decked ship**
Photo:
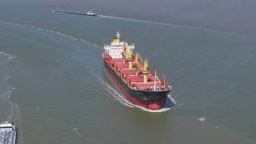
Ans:
{"type": "Polygon", "coordinates": [[[129,53],[130,49],[135,48],[134,44],[128,45],[125,41],[120,41],[120,32],[117,32],[111,44],[104,44],[104,50],[112,58],[122,58],[123,44],[125,44],[127,53],[129,53]]]}

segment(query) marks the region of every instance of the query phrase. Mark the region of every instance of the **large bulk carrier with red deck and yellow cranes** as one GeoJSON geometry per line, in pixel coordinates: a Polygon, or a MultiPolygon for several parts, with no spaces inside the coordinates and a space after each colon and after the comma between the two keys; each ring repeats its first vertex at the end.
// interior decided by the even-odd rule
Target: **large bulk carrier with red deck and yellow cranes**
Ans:
{"type": "Polygon", "coordinates": [[[155,67],[151,73],[148,59],[143,61],[138,52],[133,53],[133,49],[135,44],[121,41],[120,32],[117,32],[111,44],[104,44],[104,67],[128,101],[150,110],[159,110],[166,104],[172,87],[165,82],[165,74],[162,74],[162,80],[158,79],[155,67]]]}

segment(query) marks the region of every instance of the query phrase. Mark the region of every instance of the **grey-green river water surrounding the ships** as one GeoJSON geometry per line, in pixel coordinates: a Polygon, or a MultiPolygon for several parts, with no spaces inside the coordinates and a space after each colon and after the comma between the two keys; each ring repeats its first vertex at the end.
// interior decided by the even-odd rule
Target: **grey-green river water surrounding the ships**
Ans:
{"type": "Polygon", "coordinates": [[[1,1],[0,121],[18,124],[18,143],[256,143],[255,7],[1,1]],[[165,73],[173,107],[149,111],[123,97],[101,59],[116,31],[165,73]]]}

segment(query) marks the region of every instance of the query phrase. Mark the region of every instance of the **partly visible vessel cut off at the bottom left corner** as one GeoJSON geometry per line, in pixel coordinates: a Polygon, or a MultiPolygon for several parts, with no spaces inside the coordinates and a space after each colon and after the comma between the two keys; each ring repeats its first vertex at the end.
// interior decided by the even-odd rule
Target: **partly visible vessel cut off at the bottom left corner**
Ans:
{"type": "Polygon", "coordinates": [[[17,128],[15,123],[1,123],[0,124],[0,143],[15,144],[16,143],[17,128]]]}

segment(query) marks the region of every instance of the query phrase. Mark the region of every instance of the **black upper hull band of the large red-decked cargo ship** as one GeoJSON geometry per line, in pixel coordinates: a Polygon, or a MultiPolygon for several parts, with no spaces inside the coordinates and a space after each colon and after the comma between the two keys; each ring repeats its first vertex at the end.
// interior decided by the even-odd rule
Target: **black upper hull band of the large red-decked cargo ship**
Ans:
{"type": "Polygon", "coordinates": [[[115,73],[115,71],[107,64],[106,61],[104,61],[104,59],[103,59],[103,62],[104,62],[105,68],[109,71],[109,73],[112,74],[114,79],[120,84],[120,86],[124,89],[124,91],[133,98],[145,100],[145,98],[147,97],[147,101],[158,102],[166,99],[168,93],[171,91],[171,90],[161,91],[161,92],[135,91],[134,89],[129,88],[126,85],[126,83],[123,80],[121,80],[119,75],[115,73]]]}

